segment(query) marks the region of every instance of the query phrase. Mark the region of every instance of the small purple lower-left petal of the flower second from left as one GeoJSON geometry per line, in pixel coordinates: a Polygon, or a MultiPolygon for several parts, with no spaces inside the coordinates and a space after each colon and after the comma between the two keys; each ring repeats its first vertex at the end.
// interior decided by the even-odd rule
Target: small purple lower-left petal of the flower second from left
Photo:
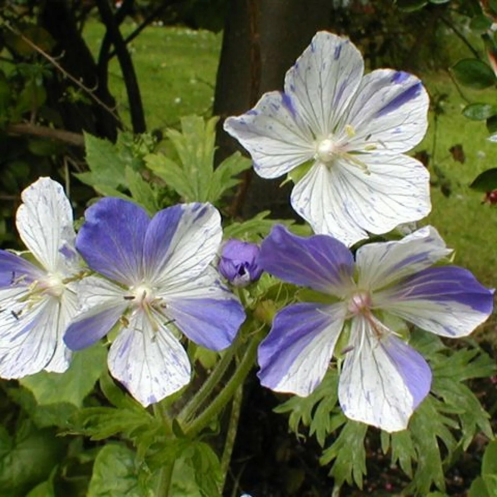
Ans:
{"type": "Polygon", "coordinates": [[[78,317],[67,329],[64,342],[71,350],[89,347],[111,330],[125,308],[126,306],[116,306],[78,317]]]}

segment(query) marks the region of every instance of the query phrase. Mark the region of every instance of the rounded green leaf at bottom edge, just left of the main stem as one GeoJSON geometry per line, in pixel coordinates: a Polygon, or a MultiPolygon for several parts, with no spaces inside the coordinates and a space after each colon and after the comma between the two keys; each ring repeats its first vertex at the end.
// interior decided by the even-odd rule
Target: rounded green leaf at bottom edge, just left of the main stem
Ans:
{"type": "Polygon", "coordinates": [[[93,465],[88,497],[152,496],[152,486],[149,485],[147,491],[140,484],[135,452],[116,443],[109,443],[100,450],[93,465]]]}

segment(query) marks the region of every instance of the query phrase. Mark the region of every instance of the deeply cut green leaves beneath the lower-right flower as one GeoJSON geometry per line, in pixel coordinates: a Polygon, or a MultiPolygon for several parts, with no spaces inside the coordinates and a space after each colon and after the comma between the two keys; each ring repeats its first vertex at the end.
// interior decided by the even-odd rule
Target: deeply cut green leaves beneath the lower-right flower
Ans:
{"type": "MultiPolygon", "coordinates": [[[[489,414],[464,382],[494,375],[496,365],[476,347],[451,351],[431,333],[415,331],[410,344],[430,363],[431,394],[416,409],[407,430],[380,432],[381,447],[412,478],[408,495],[425,496],[432,485],[445,490],[444,470],[457,450],[466,450],[480,431],[492,437],[489,414]]],[[[332,463],[330,474],[337,485],[355,482],[361,487],[366,474],[367,426],[341,413],[337,383],[337,372],[331,369],[309,397],[292,397],[275,411],[290,414],[289,427],[295,433],[306,427],[316,435],[325,447],[321,463],[332,463]]]]}

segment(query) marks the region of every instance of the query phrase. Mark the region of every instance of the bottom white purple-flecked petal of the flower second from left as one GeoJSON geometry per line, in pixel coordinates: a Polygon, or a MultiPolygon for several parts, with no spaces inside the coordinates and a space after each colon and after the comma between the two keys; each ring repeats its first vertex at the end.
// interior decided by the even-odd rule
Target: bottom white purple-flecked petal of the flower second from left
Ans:
{"type": "Polygon", "coordinates": [[[161,401],[190,381],[188,356],[158,321],[157,331],[143,312],[135,312],[109,351],[109,370],[143,406],[161,401]]]}

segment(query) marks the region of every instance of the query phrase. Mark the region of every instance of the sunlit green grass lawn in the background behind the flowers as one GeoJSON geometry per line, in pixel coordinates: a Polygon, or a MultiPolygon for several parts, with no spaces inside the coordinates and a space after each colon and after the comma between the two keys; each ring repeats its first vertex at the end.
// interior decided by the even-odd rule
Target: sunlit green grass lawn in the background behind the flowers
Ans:
{"type": "MultiPolygon", "coordinates": [[[[124,26],[124,33],[133,29],[124,26]]],[[[96,53],[103,30],[89,23],[85,37],[96,53]]],[[[147,28],[131,45],[147,122],[150,129],[175,125],[181,115],[209,115],[212,108],[220,36],[183,28],[147,28]]],[[[457,54],[456,54],[457,55],[457,54]]],[[[467,56],[461,53],[461,57],[467,56]]],[[[126,94],[117,61],[111,64],[111,89],[119,111],[129,120],[126,94]]],[[[486,285],[497,286],[497,207],[481,205],[482,195],[468,188],[481,171],[497,164],[497,145],[486,140],[484,124],[469,121],[461,114],[464,100],[444,73],[420,75],[431,95],[447,93],[445,114],[440,117],[436,144],[436,164],[452,182],[452,194],[444,197],[432,189],[433,210],[423,223],[434,225],[447,244],[455,249],[455,262],[473,271],[486,285]],[[462,144],[464,164],[452,159],[449,148],[462,144]]],[[[492,91],[465,92],[471,101],[494,101],[492,91]]],[[[433,126],[416,150],[432,152],[433,126]]]]}

